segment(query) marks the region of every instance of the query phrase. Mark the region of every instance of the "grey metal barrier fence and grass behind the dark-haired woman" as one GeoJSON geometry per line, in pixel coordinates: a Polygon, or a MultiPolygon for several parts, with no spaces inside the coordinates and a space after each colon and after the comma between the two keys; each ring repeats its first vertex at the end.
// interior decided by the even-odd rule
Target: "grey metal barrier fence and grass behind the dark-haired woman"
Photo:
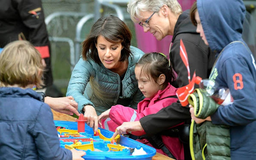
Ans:
{"type": "MultiPolygon", "coordinates": [[[[102,15],[116,15],[126,22],[135,37],[133,22],[126,11],[127,3],[128,0],[42,0],[57,86],[66,88],[68,85],[71,71],[80,58],[80,43],[102,15]]],[[[136,46],[136,39],[132,45],[136,46]]]]}

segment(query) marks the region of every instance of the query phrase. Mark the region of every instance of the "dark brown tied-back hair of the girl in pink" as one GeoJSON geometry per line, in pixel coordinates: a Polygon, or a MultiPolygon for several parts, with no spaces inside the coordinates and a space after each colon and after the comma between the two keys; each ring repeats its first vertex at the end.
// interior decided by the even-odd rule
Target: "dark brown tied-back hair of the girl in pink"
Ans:
{"type": "Polygon", "coordinates": [[[154,82],[157,82],[157,78],[161,75],[165,75],[164,88],[167,87],[168,82],[171,83],[175,80],[173,68],[169,66],[169,61],[165,55],[157,52],[150,52],[142,56],[136,63],[136,66],[142,66],[142,72],[153,78],[154,82]]]}

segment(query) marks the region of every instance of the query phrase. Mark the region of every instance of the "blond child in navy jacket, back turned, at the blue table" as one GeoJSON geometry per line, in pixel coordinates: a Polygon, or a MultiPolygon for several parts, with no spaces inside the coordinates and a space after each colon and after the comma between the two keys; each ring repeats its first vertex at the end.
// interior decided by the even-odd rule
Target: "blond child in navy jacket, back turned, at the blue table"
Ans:
{"type": "Polygon", "coordinates": [[[0,54],[0,159],[83,160],[84,151],[60,148],[49,105],[31,88],[43,84],[40,53],[14,41],[0,54]]]}

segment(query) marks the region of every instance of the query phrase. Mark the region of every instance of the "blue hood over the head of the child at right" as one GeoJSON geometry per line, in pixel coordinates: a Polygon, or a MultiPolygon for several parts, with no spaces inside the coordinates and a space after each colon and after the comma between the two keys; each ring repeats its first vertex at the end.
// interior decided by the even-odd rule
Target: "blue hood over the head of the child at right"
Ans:
{"type": "Polygon", "coordinates": [[[197,0],[197,10],[211,50],[220,52],[229,43],[242,40],[246,13],[242,0],[197,0]]]}

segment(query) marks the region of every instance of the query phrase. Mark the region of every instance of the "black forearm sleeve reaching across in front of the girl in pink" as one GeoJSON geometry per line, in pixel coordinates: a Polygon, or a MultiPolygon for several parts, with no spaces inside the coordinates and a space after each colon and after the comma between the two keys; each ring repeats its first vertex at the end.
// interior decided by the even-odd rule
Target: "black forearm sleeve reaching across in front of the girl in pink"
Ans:
{"type": "Polygon", "coordinates": [[[147,135],[154,135],[190,119],[188,107],[182,107],[180,103],[173,103],[156,114],[142,117],[139,122],[147,135]]]}

